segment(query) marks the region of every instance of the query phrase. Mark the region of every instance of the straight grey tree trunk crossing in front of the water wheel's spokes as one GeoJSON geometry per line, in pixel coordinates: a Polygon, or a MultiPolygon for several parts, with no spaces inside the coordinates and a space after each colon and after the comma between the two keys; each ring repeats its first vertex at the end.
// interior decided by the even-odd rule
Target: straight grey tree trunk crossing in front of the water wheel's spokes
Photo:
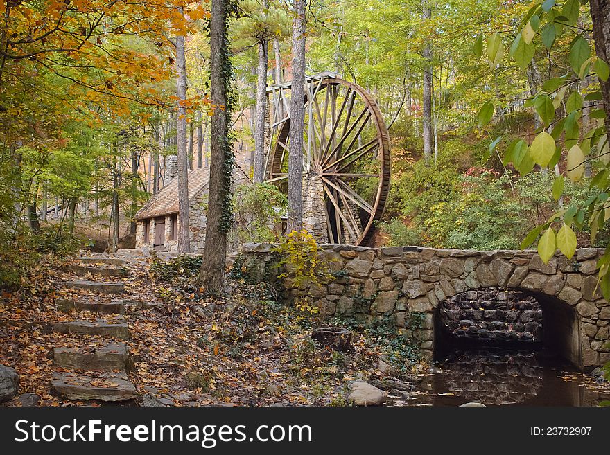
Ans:
{"type": "Polygon", "coordinates": [[[303,227],[303,128],[305,118],[306,0],[293,0],[293,82],[290,96],[288,152],[288,227],[303,227]]]}

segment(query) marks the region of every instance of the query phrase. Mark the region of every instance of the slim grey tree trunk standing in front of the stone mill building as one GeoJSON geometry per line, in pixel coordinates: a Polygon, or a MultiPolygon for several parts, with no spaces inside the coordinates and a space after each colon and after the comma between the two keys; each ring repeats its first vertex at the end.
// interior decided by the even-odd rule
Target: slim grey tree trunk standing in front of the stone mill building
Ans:
{"type": "MultiPolygon", "coordinates": [[[[184,14],[184,8],[178,8],[184,14]]],[[[191,252],[189,238],[189,157],[186,154],[186,57],[184,55],[184,35],[176,36],[176,91],[178,109],[176,118],[176,140],[178,147],[178,253],[191,252]]]]}

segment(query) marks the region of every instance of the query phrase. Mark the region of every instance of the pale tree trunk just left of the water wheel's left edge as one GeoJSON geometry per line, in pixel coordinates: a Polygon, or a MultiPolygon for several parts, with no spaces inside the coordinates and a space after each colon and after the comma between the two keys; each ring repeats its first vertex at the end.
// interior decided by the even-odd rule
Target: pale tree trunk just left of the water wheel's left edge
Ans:
{"type": "MultiPolygon", "coordinates": [[[[263,8],[267,8],[263,1],[263,8]]],[[[256,125],[254,126],[254,177],[260,184],[265,179],[265,114],[267,112],[267,67],[269,41],[263,37],[259,41],[259,66],[256,68],[256,125]]]]}

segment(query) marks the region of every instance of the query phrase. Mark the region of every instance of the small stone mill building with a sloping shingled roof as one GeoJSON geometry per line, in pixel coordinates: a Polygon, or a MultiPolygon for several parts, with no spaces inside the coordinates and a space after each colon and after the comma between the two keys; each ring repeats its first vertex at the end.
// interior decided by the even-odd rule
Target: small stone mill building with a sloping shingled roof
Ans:
{"type": "MultiPolygon", "coordinates": [[[[191,252],[202,253],[205,245],[209,168],[189,170],[189,222],[191,252]]],[[[136,213],[136,248],[177,251],[178,179],[174,178],[136,213]]]]}

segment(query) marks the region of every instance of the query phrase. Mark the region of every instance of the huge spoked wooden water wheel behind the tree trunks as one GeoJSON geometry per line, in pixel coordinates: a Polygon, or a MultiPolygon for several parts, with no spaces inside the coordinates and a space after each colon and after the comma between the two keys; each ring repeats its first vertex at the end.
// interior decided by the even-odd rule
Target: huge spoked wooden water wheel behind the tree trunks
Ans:
{"type": "MultiPolygon", "coordinates": [[[[290,83],[272,95],[267,181],[286,193],[290,83]]],[[[320,242],[367,244],[390,187],[390,136],[372,96],[321,73],[307,78],[303,147],[304,226],[320,242]]]]}

